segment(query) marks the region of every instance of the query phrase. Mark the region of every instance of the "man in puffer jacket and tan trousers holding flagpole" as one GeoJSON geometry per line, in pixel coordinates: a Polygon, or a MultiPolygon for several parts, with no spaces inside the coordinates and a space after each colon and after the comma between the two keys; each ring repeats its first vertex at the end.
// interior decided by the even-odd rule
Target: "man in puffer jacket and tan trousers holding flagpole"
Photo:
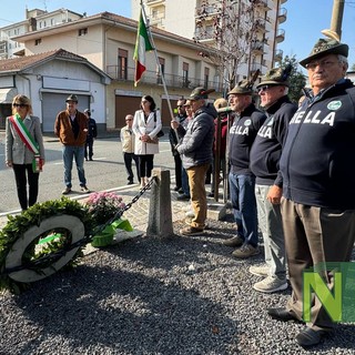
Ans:
{"type": "Polygon", "coordinates": [[[176,146],[187,172],[191,204],[194,211],[190,226],[180,231],[182,235],[201,234],[205,226],[207,199],[204,181],[212,162],[214,119],[217,116],[213,104],[209,104],[206,99],[213,91],[204,88],[196,88],[192,91],[189,100],[193,119],[182,142],[176,146]]]}

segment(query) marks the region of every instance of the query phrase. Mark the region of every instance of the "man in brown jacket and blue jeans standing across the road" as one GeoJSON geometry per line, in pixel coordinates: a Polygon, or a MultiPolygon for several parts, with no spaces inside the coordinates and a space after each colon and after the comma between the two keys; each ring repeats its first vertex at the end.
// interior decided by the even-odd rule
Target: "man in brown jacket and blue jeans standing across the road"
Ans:
{"type": "Polygon", "coordinates": [[[88,118],[78,111],[78,97],[71,94],[65,100],[67,110],[58,113],[54,122],[54,134],[63,144],[64,183],[63,195],[71,192],[71,171],[75,159],[80,190],[89,193],[84,172],[84,151],[88,135],[88,118]]]}

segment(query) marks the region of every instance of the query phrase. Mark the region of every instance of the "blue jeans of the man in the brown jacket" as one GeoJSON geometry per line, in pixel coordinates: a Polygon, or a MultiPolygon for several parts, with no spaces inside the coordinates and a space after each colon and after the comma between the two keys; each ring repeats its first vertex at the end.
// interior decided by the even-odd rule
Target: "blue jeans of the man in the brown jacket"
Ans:
{"type": "Polygon", "coordinates": [[[75,159],[78,178],[80,186],[87,185],[84,172],[84,153],[85,146],[63,145],[63,163],[64,163],[64,183],[71,189],[71,170],[73,168],[73,159],[75,159]]]}

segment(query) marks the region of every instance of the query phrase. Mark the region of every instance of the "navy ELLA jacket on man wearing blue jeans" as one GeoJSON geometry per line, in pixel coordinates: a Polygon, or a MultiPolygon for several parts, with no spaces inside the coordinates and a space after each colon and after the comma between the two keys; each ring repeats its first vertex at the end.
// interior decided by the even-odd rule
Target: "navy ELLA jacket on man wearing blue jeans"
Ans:
{"type": "Polygon", "coordinates": [[[229,158],[231,172],[234,174],[250,175],[251,148],[257,131],[266,120],[266,115],[250,104],[241,115],[235,115],[230,129],[229,158]]]}

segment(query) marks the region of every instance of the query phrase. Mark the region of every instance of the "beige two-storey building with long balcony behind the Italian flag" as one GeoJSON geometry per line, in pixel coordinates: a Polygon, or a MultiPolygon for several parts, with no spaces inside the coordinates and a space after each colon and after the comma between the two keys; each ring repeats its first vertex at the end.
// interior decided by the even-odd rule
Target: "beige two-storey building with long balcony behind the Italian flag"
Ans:
{"type": "Polygon", "coordinates": [[[205,45],[158,28],[151,29],[156,54],[145,54],[146,71],[135,88],[133,52],[136,28],[135,20],[104,12],[27,32],[12,40],[24,45],[26,57],[62,48],[85,58],[108,74],[111,83],[106,85],[104,110],[95,113],[95,116],[104,118],[108,129],[123,126],[124,116],[140,109],[144,94],[154,98],[164,125],[170,125],[170,106],[174,108],[175,102],[189,95],[193,88],[213,88],[215,97],[221,94],[215,65],[199,54],[205,45]],[[158,63],[164,73],[168,91],[158,63]]]}

